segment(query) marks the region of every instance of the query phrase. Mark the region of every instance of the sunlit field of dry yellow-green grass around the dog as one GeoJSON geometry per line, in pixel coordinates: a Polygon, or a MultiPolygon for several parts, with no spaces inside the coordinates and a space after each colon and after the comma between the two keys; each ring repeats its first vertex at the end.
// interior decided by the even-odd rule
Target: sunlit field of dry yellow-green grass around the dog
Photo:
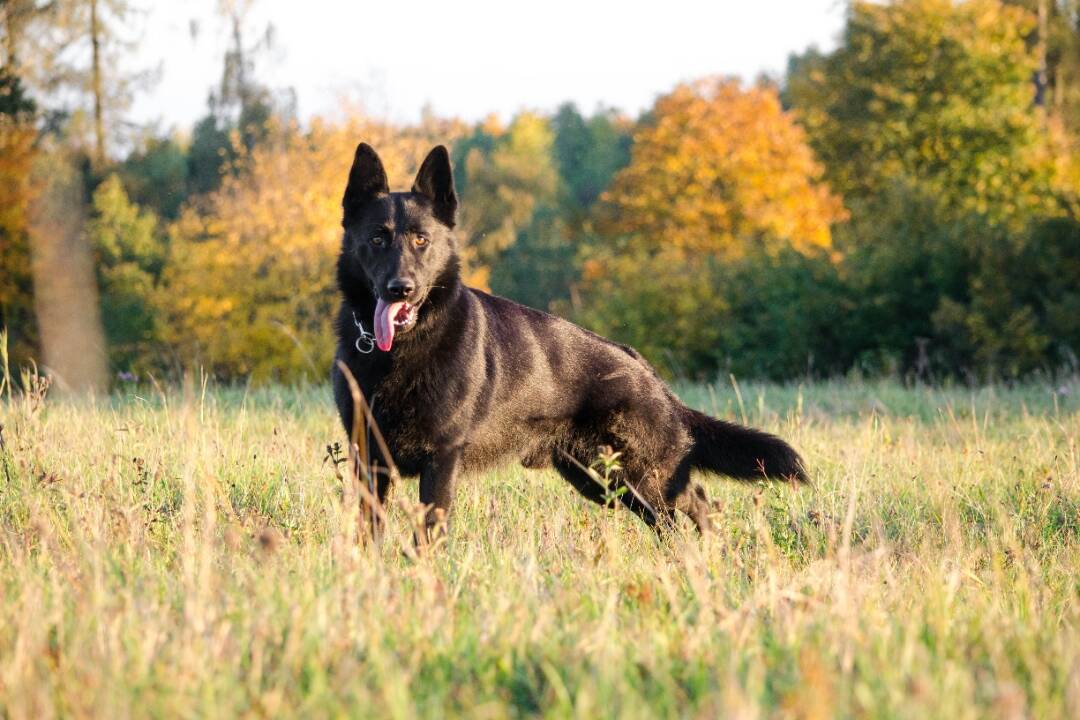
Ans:
{"type": "Polygon", "coordinates": [[[4,398],[0,717],[1078,717],[1080,381],[686,386],[815,484],[665,542],[551,473],[357,545],[328,390],[4,398]]]}

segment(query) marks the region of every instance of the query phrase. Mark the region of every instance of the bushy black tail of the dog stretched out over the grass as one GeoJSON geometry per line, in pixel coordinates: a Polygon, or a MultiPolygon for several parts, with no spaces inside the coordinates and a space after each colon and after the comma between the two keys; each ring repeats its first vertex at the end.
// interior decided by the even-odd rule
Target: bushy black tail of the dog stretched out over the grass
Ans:
{"type": "Polygon", "coordinates": [[[796,479],[808,483],[802,458],[775,435],[710,418],[686,408],[693,437],[690,464],[739,480],[796,479]]]}

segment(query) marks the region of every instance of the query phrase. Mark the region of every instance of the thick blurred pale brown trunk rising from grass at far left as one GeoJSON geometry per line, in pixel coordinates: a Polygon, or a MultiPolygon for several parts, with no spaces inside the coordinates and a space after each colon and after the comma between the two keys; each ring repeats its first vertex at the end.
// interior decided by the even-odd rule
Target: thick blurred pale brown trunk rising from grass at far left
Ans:
{"type": "Polygon", "coordinates": [[[38,191],[27,230],[45,370],[60,391],[105,391],[105,331],[85,231],[83,179],[59,152],[41,152],[31,177],[38,191]]]}

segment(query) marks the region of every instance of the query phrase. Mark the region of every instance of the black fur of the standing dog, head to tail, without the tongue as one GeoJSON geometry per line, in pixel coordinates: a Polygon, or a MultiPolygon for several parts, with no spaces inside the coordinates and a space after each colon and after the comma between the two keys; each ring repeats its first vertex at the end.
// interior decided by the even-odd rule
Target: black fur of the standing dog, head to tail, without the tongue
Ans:
{"type": "MultiPolygon", "coordinates": [[[[429,527],[449,510],[459,476],[508,459],[553,466],[590,500],[609,501],[584,471],[602,446],[622,452],[616,477],[632,491],[619,500],[649,525],[678,510],[708,529],[694,468],[806,479],[791,446],[686,407],[632,348],[462,285],[457,204],[444,147],[424,160],[410,192],[393,193],[375,151],[356,148],[342,201],[337,359],[372,400],[401,474],[419,475],[429,527]],[[419,307],[416,323],[389,352],[362,354],[353,317],[369,330],[376,295],[392,295],[393,281],[397,297],[419,307]],[[411,286],[404,296],[401,281],[411,286]]],[[[337,366],[333,379],[348,433],[353,400],[337,366]]],[[[381,476],[380,500],[389,485],[381,476]]]]}

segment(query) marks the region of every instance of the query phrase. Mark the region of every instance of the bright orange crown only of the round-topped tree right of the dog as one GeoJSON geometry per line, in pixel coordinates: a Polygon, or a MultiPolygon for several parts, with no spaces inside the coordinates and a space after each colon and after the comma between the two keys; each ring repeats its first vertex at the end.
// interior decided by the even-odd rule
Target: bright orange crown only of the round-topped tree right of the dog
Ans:
{"type": "Polygon", "coordinates": [[[775,91],[731,80],[677,86],[634,136],[598,230],[645,247],[733,258],[747,243],[807,250],[831,244],[841,202],[775,91]]]}

